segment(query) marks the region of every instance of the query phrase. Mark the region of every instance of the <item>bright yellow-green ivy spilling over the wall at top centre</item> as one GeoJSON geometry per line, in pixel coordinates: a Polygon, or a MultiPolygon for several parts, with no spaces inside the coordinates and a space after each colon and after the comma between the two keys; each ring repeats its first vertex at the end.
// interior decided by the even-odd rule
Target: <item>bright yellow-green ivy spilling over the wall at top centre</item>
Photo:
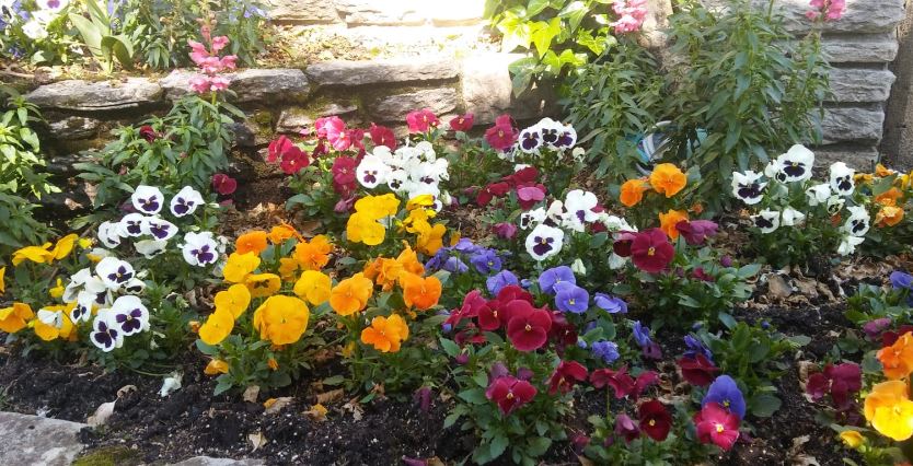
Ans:
{"type": "Polygon", "coordinates": [[[532,57],[513,62],[513,92],[538,78],[562,77],[615,43],[605,0],[487,0],[485,16],[504,35],[502,49],[524,48],[532,57]]]}

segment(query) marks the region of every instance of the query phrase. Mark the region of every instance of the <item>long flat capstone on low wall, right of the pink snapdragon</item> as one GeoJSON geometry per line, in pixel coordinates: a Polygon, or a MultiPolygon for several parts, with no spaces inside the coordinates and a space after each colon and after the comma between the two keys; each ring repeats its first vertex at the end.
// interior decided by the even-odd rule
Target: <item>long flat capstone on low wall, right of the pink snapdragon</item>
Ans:
{"type": "Polygon", "coordinates": [[[339,86],[450,80],[459,74],[457,62],[443,58],[327,61],[305,71],[314,84],[339,86]]]}

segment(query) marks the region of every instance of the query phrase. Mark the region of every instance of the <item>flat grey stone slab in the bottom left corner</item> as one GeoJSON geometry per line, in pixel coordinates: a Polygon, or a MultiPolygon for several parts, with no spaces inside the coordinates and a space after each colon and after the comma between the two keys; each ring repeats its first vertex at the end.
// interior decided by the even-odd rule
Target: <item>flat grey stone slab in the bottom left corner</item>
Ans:
{"type": "Polygon", "coordinates": [[[79,422],[0,412],[0,464],[68,466],[82,452],[79,422]]]}

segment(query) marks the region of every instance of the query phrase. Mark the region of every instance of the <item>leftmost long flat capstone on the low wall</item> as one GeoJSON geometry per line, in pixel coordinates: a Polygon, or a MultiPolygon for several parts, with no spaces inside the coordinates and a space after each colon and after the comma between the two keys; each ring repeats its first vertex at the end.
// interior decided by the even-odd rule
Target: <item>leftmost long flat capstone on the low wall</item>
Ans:
{"type": "Polygon", "coordinates": [[[42,108],[120,110],[158,103],[162,98],[162,88],[146,78],[99,82],[67,80],[42,85],[25,98],[42,108]]]}

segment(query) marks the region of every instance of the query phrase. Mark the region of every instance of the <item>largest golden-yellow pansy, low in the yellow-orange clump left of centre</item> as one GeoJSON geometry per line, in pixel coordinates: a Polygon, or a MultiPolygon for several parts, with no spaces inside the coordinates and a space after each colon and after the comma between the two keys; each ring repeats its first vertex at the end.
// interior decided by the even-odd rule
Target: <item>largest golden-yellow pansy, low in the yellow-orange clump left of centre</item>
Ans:
{"type": "Polygon", "coordinates": [[[261,339],[273,345],[291,345],[308,329],[311,311],[298,298],[278,294],[268,298],[254,312],[254,328],[261,339]]]}

